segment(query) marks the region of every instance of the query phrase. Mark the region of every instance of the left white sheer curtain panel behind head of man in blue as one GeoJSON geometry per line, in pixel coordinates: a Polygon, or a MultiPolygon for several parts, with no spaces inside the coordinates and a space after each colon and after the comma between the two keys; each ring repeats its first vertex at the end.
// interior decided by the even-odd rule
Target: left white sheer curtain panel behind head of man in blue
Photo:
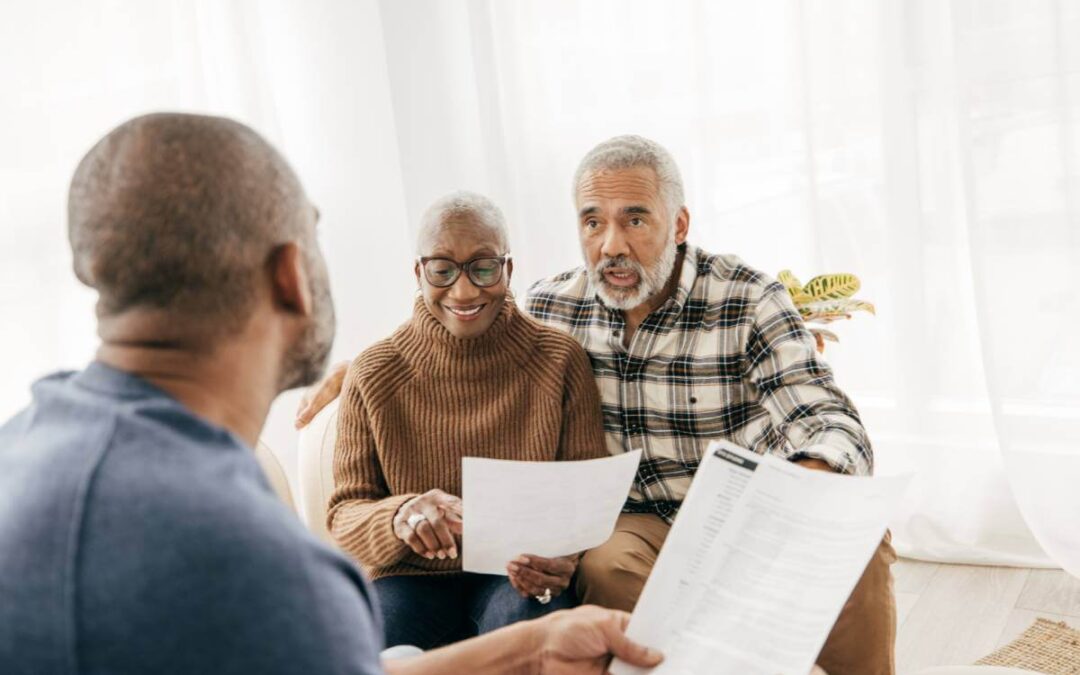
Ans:
{"type": "MultiPolygon", "coordinates": [[[[95,295],[71,273],[67,184],[97,138],[144,112],[233,117],[289,158],[323,216],[336,359],[407,315],[411,252],[374,1],[4,3],[0,50],[0,418],[38,377],[93,357],[95,295]]],[[[264,431],[289,467],[296,401],[282,396],[264,431]]]]}

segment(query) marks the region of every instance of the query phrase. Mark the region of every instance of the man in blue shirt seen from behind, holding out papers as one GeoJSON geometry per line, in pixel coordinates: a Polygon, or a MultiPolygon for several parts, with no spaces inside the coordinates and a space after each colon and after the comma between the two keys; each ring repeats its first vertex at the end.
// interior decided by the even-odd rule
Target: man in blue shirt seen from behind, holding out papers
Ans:
{"type": "MultiPolygon", "coordinates": [[[[153,114],[94,146],[68,213],[102,346],[0,428],[0,671],[381,672],[368,583],[251,450],[334,336],[318,213],[292,170],[235,122],[153,114]]],[[[387,670],[654,665],[626,620],[557,612],[387,670]]]]}

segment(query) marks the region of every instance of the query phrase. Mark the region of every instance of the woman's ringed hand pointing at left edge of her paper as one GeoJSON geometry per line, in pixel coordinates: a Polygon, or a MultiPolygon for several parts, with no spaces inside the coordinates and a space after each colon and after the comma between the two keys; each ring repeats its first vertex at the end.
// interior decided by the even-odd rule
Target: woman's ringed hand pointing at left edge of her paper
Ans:
{"type": "Polygon", "coordinates": [[[428,490],[406,501],[394,514],[394,535],[417,555],[430,559],[457,558],[461,536],[461,498],[428,490]]]}

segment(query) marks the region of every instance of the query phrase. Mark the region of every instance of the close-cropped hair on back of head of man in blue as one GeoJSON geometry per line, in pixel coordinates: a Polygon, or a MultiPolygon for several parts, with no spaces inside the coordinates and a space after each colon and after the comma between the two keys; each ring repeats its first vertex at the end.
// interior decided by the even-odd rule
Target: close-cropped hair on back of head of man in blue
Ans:
{"type": "Polygon", "coordinates": [[[135,118],[71,179],[75,272],[98,292],[99,316],[146,308],[234,327],[274,246],[311,237],[310,211],[288,164],[247,126],[135,118]]]}

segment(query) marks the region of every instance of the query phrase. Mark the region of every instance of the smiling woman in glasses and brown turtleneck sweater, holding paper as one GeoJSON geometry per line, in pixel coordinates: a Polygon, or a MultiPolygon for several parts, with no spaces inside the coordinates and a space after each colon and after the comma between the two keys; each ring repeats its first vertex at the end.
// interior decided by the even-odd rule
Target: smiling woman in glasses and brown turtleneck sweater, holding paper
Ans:
{"type": "Polygon", "coordinates": [[[589,357],[516,308],[508,253],[489,200],[435,202],[413,318],[345,377],[328,522],[375,580],[388,645],[429,649],[575,602],[578,556],[522,555],[509,580],[461,570],[462,457],[605,454],[589,357]]]}

